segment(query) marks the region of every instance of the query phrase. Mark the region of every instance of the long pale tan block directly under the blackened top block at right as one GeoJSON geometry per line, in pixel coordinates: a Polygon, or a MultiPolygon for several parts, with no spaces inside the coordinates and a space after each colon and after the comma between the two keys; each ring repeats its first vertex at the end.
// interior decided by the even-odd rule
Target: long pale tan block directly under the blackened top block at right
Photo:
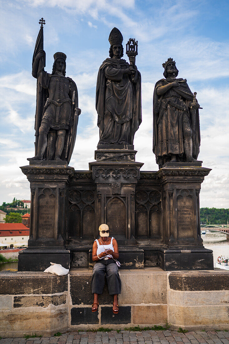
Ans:
{"type": "Polygon", "coordinates": [[[168,303],[177,306],[228,305],[229,290],[168,291],[168,303]]]}

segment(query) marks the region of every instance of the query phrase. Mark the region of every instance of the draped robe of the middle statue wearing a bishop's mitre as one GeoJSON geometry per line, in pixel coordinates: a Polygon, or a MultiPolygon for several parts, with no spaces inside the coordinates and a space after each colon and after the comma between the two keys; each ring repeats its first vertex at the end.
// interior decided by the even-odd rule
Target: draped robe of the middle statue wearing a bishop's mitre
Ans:
{"type": "Polygon", "coordinates": [[[133,144],[142,121],[141,74],[123,74],[126,60],[107,58],[99,68],[96,86],[100,144],[133,144]]]}

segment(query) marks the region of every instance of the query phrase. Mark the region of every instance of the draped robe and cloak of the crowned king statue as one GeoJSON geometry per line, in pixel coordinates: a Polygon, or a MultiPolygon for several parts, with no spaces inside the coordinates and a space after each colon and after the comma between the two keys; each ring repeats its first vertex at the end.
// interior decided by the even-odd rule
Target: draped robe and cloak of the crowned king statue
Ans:
{"type": "Polygon", "coordinates": [[[195,118],[190,109],[193,93],[186,79],[161,79],[155,84],[153,94],[153,152],[156,162],[170,161],[171,155],[176,154],[178,161],[184,161],[184,138],[182,117],[186,113],[192,128],[193,158],[197,159],[200,146],[199,110],[195,110],[195,118]],[[179,82],[179,87],[172,87],[163,95],[157,95],[157,88],[173,81],[179,82]],[[193,123],[195,121],[195,123],[193,123]],[[194,129],[195,125],[195,129],[194,129]]]}

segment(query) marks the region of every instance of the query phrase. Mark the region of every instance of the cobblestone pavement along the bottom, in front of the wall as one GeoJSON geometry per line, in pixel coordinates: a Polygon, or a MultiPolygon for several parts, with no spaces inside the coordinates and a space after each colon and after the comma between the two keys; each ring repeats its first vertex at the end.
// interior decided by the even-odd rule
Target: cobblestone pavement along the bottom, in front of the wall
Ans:
{"type": "Polygon", "coordinates": [[[67,332],[61,336],[37,338],[2,338],[0,344],[229,344],[227,331],[111,331],[67,332]]]}

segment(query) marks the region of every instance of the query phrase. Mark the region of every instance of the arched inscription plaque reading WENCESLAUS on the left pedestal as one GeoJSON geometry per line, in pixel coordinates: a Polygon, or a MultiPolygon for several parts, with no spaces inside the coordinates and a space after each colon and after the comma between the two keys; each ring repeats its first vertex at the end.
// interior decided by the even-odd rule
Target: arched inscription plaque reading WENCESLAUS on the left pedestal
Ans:
{"type": "Polygon", "coordinates": [[[50,189],[39,197],[38,238],[54,238],[56,198],[50,189]]]}

